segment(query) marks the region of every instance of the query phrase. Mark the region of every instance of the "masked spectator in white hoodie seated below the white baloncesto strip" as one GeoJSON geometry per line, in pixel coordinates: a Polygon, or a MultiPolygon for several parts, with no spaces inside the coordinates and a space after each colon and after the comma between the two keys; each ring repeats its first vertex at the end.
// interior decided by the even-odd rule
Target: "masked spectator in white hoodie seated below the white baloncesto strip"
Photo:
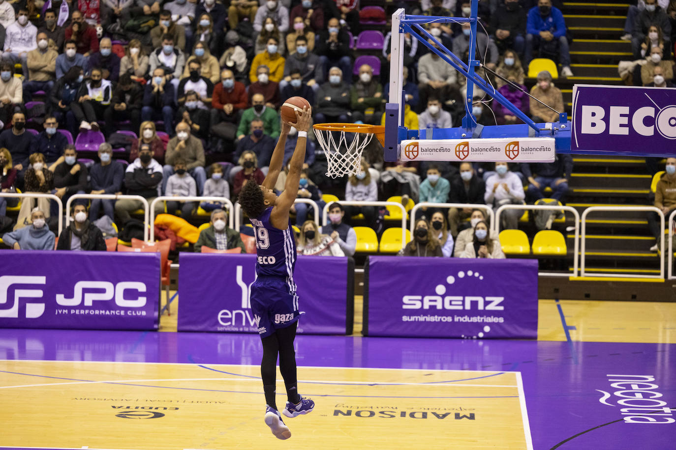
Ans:
{"type": "MultiPolygon", "coordinates": [[[[497,210],[504,204],[523,204],[526,197],[523,192],[521,178],[509,170],[507,163],[496,163],[496,173],[486,179],[486,192],[483,200],[486,204],[492,204],[497,210]]],[[[501,229],[518,228],[518,219],[523,215],[522,210],[508,209],[500,215],[501,229]]]]}

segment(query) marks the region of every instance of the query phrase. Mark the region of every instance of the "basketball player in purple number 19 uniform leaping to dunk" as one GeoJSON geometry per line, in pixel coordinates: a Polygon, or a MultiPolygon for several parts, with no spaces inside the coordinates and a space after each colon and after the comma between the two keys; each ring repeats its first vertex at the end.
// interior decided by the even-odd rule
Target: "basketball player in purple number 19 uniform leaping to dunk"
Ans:
{"type": "Polygon", "coordinates": [[[250,179],[239,194],[239,204],[254,225],[256,237],[256,275],[251,285],[251,311],[258,322],[258,333],[263,343],[260,373],[263,379],[266,412],[265,423],[279,439],[289,439],[291,431],[282,421],[274,399],[277,355],[279,370],[287,388],[284,415],[295,417],[314,409],[314,401],[301,397],[297,391],[295,351],[296,327],[300,312],[293,281],[296,246],[289,221],[289,209],[298,194],[301,169],[305,161],[305,146],[310,127],[311,109],[295,111],[298,142],[293,150],[284,191],[278,196],[272,192],[282,169],[284,146],[291,124],[282,123],[279,141],[272,152],[268,176],[258,186],[250,179]]]}

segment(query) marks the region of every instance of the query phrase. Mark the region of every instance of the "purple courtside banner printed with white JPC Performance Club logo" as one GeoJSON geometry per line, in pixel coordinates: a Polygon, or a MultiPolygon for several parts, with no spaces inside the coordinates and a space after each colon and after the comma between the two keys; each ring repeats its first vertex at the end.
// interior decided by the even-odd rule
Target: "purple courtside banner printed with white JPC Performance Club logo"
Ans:
{"type": "Polygon", "coordinates": [[[0,328],[158,329],[159,253],[3,255],[0,328]]]}

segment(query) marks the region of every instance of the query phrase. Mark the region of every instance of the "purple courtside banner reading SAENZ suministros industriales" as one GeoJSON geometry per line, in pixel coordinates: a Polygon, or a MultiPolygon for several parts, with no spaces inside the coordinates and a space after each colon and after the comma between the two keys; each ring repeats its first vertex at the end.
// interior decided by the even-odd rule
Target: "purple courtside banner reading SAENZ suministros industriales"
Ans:
{"type": "Polygon", "coordinates": [[[537,337],[537,260],[370,256],[364,335],[537,337]]]}

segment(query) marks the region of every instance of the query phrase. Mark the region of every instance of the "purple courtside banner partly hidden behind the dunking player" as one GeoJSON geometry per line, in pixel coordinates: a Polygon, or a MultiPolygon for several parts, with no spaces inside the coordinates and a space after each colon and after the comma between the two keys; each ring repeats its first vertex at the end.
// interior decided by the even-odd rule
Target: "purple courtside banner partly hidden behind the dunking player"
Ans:
{"type": "MultiPolygon", "coordinates": [[[[298,333],[352,334],[354,260],[299,256],[298,333]]],[[[178,331],[258,333],[249,293],[256,280],[255,254],[194,253],[180,256],[178,331]]]]}

